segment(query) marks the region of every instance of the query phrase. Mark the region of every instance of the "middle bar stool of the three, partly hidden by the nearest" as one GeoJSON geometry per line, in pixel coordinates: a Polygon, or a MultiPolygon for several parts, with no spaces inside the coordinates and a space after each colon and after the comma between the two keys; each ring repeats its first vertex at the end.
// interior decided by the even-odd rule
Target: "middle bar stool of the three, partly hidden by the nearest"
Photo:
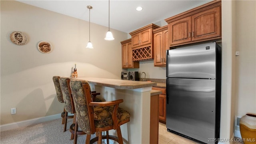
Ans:
{"type": "MultiPolygon", "coordinates": [[[[74,107],[73,97],[70,91],[70,78],[67,77],[60,77],[60,88],[63,95],[63,101],[64,101],[64,108],[67,112],[70,114],[74,114],[73,118],[73,124],[71,124],[69,131],[71,132],[71,140],[74,139],[74,144],[77,143],[77,135],[83,135],[86,134],[82,130],[78,130],[78,124],[76,121],[76,110],[74,107]]],[[[96,98],[97,95],[100,95],[100,93],[96,93],[93,91],[92,93],[92,99],[101,101],[100,99],[96,98]]],[[[65,119],[66,120],[66,119],[65,119]]],[[[65,121],[66,122],[66,121],[65,121]]]]}

